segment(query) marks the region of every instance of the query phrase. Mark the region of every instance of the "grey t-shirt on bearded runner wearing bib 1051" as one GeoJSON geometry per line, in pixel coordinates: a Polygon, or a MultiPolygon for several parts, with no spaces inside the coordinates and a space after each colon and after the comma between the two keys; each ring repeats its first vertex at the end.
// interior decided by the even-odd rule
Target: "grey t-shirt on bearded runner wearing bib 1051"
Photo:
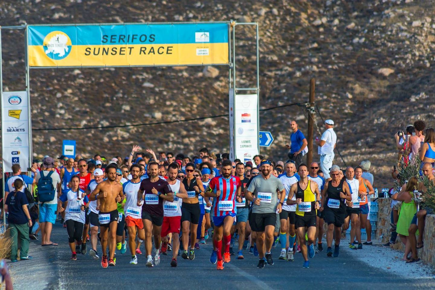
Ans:
{"type": "Polygon", "coordinates": [[[252,206],[253,213],[275,213],[278,203],[278,192],[284,189],[278,177],[271,175],[269,179],[264,179],[259,175],[249,184],[248,191],[254,193],[260,199],[260,205],[252,206]]]}

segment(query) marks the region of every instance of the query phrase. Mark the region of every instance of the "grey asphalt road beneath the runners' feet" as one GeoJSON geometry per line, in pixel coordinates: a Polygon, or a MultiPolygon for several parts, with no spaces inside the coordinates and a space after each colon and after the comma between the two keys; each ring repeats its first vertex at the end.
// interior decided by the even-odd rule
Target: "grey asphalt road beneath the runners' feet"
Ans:
{"type": "MultiPolygon", "coordinates": [[[[434,279],[407,279],[396,276],[356,260],[346,251],[340,257],[328,258],[326,252],[315,255],[309,269],[303,269],[300,253],[294,262],[278,260],[279,249],[273,249],[275,264],[258,269],[258,258],[244,253],[244,260],[231,256],[223,271],[209,261],[211,239],[195,250],[193,261],[179,257],[178,267],[170,266],[171,256],[161,255],[161,263],[154,268],[145,267],[145,255],[138,255],[138,264],[130,265],[130,254],[117,253],[116,267],[103,269],[100,261],[88,254],[70,260],[66,229],[56,224],[52,240],[58,247],[40,247],[31,241],[29,255],[33,260],[10,264],[14,289],[434,289],[434,279]]],[[[38,243],[35,243],[38,242],[38,243]]],[[[237,242],[236,242],[237,245],[237,242]]],[[[344,247],[343,245],[342,247],[344,247]]],[[[98,251],[101,253],[100,246],[98,251]]],[[[128,246],[127,246],[128,247],[128,246]]],[[[143,246],[142,246],[143,247],[143,246]]],[[[236,247],[236,246],[235,246],[236,247]]],[[[326,250],[325,244],[324,248],[326,250]]],[[[144,252],[144,250],[141,248],[144,252]]],[[[363,249],[364,250],[364,249],[363,249]]]]}

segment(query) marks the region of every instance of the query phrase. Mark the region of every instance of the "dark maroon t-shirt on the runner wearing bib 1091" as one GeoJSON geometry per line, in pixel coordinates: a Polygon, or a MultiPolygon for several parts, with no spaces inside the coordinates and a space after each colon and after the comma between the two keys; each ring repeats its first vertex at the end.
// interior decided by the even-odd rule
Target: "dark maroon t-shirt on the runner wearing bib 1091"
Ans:
{"type": "Polygon", "coordinates": [[[156,182],[151,182],[151,177],[142,180],[140,190],[144,190],[145,200],[142,205],[142,211],[152,214],[153,216],[163,217],[163,198],[158,197],[151,192],[153,187],[161,194],[171,193],[172,189],[166,180],[159,178],[156,182]]]}

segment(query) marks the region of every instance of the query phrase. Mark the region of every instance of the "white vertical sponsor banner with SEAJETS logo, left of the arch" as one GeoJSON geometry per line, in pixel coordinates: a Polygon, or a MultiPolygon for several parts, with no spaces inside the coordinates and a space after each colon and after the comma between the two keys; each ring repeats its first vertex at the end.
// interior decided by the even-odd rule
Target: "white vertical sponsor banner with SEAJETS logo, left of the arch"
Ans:
{"type": "Polygon", "coordinates": [[[12,172],[13,164],[29,167],[29,106],[27,92],[3,92],[2,150],[3,171],[12,172]]]}

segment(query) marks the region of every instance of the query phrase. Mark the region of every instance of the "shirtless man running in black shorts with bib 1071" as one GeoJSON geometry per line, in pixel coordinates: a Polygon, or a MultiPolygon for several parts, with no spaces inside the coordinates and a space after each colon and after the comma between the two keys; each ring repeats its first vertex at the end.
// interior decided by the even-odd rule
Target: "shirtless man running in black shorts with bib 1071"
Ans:
{"type": "Polygon", "coordinates": [[[116,247],[116,229],[118,224],[118,210],[116,198],[124,200],[122,185],[115,181],[117,167],[110,164],[106,167],[107,180],[98,183],[94,191],[90,193],[89,200],[100,200],[100,212],[98,221],[100,222],[101,248],[103,248],[103,257],[101,267],[107,268],[107,231],[110,227],[109,239],[109,266],[115,266],[114,255],[116,247]]]}

